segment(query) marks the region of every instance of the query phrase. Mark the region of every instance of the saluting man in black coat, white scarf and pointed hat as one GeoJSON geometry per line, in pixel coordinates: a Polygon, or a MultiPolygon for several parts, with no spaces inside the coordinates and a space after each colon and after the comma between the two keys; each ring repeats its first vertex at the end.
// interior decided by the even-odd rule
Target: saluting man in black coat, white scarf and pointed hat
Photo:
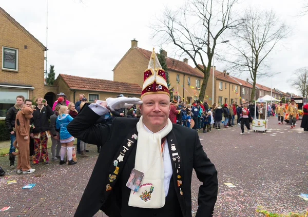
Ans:
{"type": "Polygon", "coordinates": [[[67,126],[71,135],[102,146],[74,216],[93,216],[99,209],[111,217],[191,216],[192,169],[202,182],[196,216],[213,215],[217,171],[198,133],[168,119],[170,95],[165,72],[155,66],[158,63],[153,52],[151,67],[145,71],[143,102],[127,97],[97,101],[67,126]],[[109,109],[141,103],[140,120],[116,117],[111,125],[95,124],[109,109]],[[134,172],[142,173],[143,180],[138,189],[132,190],[126,184],[134,172]]]}

